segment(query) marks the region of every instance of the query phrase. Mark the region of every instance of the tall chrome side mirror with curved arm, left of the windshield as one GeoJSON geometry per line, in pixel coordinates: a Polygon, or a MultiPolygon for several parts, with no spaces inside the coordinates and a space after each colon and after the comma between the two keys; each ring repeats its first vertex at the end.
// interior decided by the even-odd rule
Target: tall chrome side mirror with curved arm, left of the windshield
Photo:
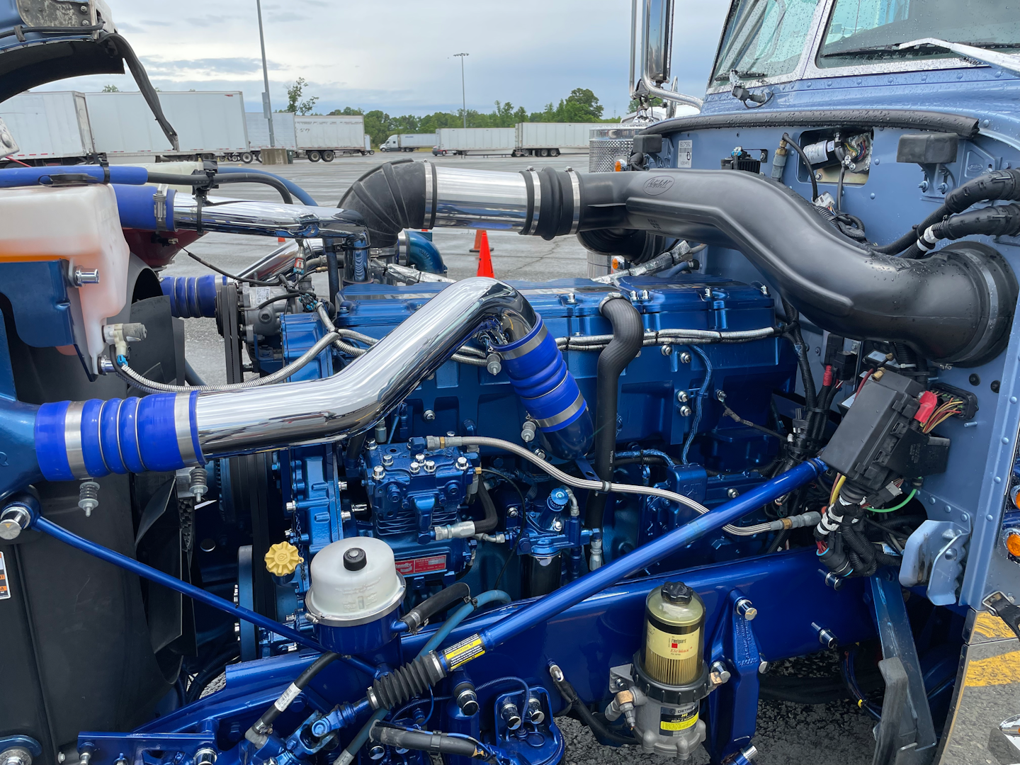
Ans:
{"type": "Polygon", "coordinates": [[[673,0],[631,0],[630,95],[702,107],[702,100],[662,87],[673,55],[673,0]]]}

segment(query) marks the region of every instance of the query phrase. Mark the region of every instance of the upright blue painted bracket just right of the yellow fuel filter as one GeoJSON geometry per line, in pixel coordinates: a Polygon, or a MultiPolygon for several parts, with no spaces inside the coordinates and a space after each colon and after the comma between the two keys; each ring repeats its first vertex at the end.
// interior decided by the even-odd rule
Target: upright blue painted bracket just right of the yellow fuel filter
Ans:
{"type": "Polygon", "coordinates": [[[712,762],[720,762],[747,747],[758,719],[758,668],[762,657],[751,622],[736,613],[736,602],[744,597],[740,590],[730,591],[712,638],[710,662],[721,661],[729,670],[729,680],[708,698],[706,748],[712,762]]]}

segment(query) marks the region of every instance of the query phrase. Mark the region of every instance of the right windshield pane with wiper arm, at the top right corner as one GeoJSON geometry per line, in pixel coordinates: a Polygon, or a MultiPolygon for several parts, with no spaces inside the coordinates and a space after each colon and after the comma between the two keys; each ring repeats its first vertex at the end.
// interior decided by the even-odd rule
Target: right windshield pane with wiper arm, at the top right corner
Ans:
{"type": "Polygon", "coordinates": [[[1020,0],[836,0],[818,65],[953,55],[932,46],[894,49],[926,37],[1008,53],[1020,49],[1020,0]]]}

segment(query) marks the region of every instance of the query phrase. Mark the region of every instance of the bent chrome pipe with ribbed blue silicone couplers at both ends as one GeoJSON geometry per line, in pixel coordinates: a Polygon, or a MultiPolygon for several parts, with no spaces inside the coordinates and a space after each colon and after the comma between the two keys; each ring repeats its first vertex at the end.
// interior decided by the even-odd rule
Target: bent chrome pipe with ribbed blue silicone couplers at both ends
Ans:
{"type": "Polygon", "coordinates": [[[370,429],[478,333],[503,354],[548,448],[582,455],[592,417],[555,339],[514,288],[474,277],[447,287],[332,377],[44,404],[36,414],[36,456],[45,477],[69,480],[339,441],[370,429]]]}

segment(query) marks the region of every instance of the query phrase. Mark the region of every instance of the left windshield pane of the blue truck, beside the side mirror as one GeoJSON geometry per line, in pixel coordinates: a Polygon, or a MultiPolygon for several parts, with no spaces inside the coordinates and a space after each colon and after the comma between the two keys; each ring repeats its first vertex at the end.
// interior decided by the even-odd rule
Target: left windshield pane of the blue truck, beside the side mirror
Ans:
{"type": "Polygon", "coordinates": [[[729,9],[710,87],[789,74],[811,29],[815,0],[737,0],[729,9]]]}

